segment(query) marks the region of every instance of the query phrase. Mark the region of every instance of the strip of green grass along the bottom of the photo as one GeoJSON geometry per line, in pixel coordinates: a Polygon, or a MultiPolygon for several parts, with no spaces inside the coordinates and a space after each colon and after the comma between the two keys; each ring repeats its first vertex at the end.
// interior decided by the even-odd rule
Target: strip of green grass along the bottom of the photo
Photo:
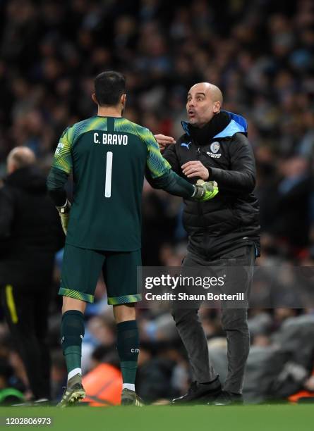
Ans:
{"type": "MultiPolygon", "coordinates": [[[[0,429],[108,431],[311,431],[312,405],[146,406],[136,407],[10,407],[6,417],[50,417],[50,426],[0,426],[0,429]]],[[[1,423],[2,425],[2,423],[1,423]]]]}

